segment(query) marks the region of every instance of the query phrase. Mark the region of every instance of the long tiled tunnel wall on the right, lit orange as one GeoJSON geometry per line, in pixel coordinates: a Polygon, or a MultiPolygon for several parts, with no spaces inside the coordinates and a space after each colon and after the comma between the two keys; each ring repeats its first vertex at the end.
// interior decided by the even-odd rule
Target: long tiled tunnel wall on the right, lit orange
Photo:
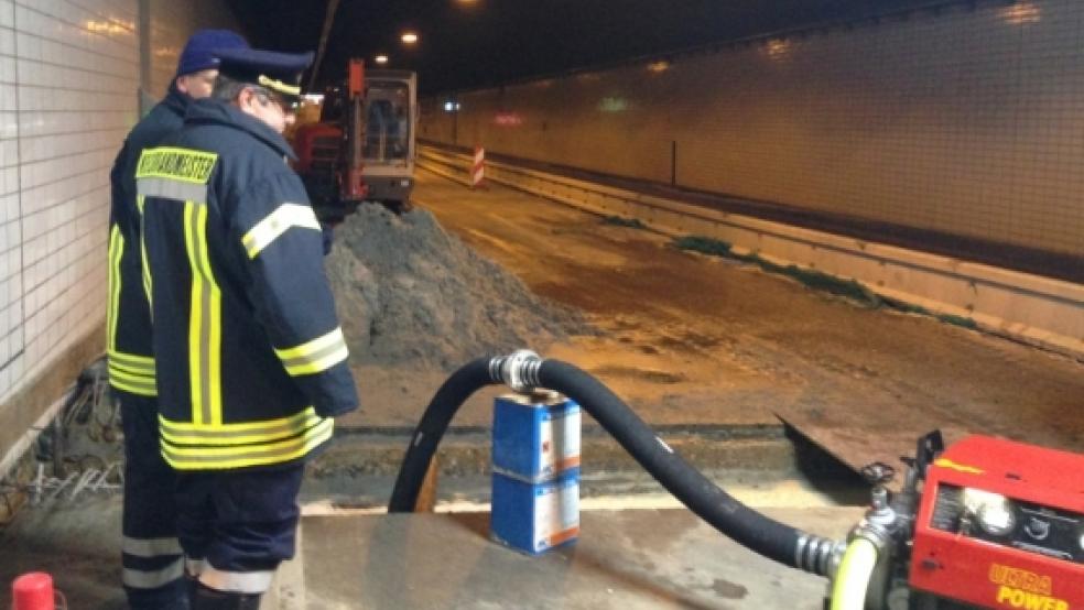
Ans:
{"type": "Polygon", "coordinates": [[[1082,22],[961,2],[441,96],[420,135],[1082,257],[1082,22]]]}

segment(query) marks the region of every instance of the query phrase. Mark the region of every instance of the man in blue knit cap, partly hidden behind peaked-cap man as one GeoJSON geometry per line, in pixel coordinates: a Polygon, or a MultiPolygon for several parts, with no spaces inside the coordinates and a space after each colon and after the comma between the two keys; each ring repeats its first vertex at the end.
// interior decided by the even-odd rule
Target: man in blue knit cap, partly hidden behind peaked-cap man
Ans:
{"type": "Polygon", "coordinates": [[[155,367],[151,316],[139,250],[136,163],[143,150],[181,129],[193,99],[210,95],[219,48],[248,47],[228,30],[192,35],[165,98],[128,134],[110,174],[109,383],[120,402],[124,429],[122,582],[129,604],[140,610],[187,608],[183,558],[173,509],[173,470],[159,450],[155,367]]]}

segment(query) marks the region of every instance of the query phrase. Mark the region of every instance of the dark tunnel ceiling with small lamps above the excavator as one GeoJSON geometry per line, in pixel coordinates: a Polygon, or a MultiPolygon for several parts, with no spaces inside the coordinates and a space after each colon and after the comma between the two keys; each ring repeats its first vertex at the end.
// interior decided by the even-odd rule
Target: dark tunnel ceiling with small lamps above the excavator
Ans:
{"type": "MultiPolygon", "coordinates": [[[[334,0],[333,0],[334,1],[334,0]]],[[[227,0],[253,45],[317,48],[327,0],[227,0]]],[[[941,2],[944,4],[951,2],[941,2]]],[[[340,0],[317,83],[384,53],[422,92],[479,88],[633,57],[846,22],[930,0],[340,0]],[[413,47],[399,36],[412,30],[413,47]]]]}

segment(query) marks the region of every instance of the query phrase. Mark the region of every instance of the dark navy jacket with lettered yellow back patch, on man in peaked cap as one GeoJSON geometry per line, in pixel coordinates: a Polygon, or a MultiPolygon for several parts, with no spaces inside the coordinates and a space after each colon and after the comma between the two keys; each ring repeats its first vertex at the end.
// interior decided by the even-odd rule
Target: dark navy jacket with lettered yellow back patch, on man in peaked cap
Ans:
{"type": "Polygon", "coordinates": [[[303,459],[357,407],[292,155],[263,122],[203,99],[140,157],[162,455],[176,469],[303,459]]]}

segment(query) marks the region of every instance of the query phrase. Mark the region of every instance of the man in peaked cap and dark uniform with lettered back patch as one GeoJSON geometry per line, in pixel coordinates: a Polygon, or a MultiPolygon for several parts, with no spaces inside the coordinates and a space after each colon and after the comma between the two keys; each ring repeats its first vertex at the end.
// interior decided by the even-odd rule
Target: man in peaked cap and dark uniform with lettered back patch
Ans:
{"type": "Polygon", "coordinates": [[[304,461],[358,405],[321,226],[281,135],[312,54],[220,58],[212,98],[136,172],[162,456],[196,610],[258,608],[294,553],[304,461]]]}

